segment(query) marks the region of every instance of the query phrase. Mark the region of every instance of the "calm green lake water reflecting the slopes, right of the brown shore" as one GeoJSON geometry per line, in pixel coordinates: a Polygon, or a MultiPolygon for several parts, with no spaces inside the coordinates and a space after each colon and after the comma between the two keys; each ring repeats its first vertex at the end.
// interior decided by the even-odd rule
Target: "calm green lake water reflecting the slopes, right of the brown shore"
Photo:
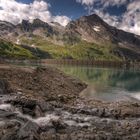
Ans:
{"type": "Polygon", "coordinates": [[[65,73],[88,83],[81,96],[105,101],[140,100],[140,72],[81,66],[60,66],[65,73]]]}

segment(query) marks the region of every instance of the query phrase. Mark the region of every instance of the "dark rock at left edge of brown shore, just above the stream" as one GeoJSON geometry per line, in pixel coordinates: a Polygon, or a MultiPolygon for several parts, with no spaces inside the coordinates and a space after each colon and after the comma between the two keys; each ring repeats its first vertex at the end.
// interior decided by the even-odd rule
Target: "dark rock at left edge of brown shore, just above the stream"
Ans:
{"type": "Polygon", "coordinates": [[[0,94],[7,94],[9,91],[9,84],[6,80],[0,79],[0,94]]]}

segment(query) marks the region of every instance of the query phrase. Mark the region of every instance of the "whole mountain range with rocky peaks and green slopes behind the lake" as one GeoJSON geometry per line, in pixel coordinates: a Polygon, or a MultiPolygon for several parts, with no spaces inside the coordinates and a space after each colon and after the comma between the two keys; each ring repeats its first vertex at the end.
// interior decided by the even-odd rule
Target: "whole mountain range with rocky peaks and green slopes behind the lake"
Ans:
{"type": "Polygon", "coordinates": [[[0,21],[0,55],[16,58],[140,60],[140,36],[108,25],[93,14],[66,27],[35,19],[0,21]]]}

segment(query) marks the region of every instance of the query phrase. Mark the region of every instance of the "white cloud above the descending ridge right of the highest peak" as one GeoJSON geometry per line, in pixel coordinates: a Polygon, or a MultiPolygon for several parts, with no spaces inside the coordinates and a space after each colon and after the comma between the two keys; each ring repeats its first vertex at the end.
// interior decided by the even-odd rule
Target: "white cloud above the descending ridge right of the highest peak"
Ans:
{"type": "Polygon", "coordinates": [[[140,1],[133,1],[127,5],[127,10],[121,17],[111,16],[101,12],[99,15],[110,25],[127,32],[140,35],[140,1]],[[118,22],[118,19],[121,21],[118,22]]]}

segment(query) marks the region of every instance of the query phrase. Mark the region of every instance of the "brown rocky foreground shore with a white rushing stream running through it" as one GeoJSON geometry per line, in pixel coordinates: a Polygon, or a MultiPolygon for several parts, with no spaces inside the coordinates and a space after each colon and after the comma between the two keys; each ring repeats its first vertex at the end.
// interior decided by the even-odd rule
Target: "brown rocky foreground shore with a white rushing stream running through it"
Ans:
{"type": "Polygon", "coordinates": [[[139,140],[140,102],[84,99],[52,68],[0,66],[0,140],[139,140]]]}

